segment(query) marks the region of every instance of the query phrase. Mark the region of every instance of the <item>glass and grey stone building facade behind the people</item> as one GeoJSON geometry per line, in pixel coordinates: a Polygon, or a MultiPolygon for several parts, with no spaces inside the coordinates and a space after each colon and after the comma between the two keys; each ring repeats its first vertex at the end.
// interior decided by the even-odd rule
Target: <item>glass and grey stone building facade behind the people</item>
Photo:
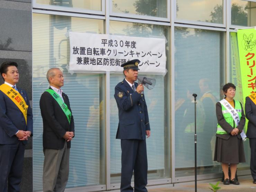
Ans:
{"type": "MultiPolygon", "coordinates": [[[[153,90],[145,90],[152,129],[147,139],[148,185],[194,180],[193,93],[198,94],[198,179],[221,177],[220,164],[213,162],[215,104],[223,98],[226,82],[237,86],[236,99],[243,101],[235,29],[256,25],[256,0],[1,0],[0,15],[4,18],[0,21],[0,61],[15,60],[22,66],[20,84],[29,90],[33,102],[33,168],[32,153],[27,153],[24,169],[31,176],[26,177],[31,191],[42,191],[39,99],[48,88],[50,67],[64,72],[63,90],[70,98],[75,122],[67,191],[120,187],[121,148],[115,139],[118,110],[113,95],[124,76],[71,73],[70,31],[164,37],[166,74],[140,73],[157,82],[153,90]]],[[[238,176],[250,174],[248,141],[244,147],[246,163],[239,164],[238,176]]],[[[31,148],[28,145],[26,151],[31,148]]]]}

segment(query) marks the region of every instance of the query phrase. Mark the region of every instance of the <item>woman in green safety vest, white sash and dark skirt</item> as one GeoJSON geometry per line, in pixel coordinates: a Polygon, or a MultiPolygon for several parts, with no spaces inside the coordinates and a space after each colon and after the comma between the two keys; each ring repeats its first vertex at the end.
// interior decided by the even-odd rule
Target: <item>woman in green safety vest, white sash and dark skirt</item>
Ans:
{"type": "Polygon", "coordinates": [[[227,83],[223,86],[225,98],[216,103],[218,120],[214,161],[220,162],[224,173],[224,185],[239,185],[236,180],[238,163],[245,163],[243,140],[240,133],[245,126],[245,115],[242,104],[234,100],[236,86],[227,83]],[[230,164],[230,165],[229,165],[230,164]],[[229,178],[228,166],[231,176],[229,178]]]}

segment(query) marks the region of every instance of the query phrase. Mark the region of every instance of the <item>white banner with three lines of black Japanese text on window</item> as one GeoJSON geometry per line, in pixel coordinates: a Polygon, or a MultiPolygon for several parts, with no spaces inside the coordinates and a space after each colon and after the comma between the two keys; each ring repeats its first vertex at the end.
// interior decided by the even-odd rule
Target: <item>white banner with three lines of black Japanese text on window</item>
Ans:
{"type": "Polygon", "coordinates": [[[140,72],[165,73],[165,38],[70,32],[71,71],[123,71],[121,64],[140,60],[140,72]]]}

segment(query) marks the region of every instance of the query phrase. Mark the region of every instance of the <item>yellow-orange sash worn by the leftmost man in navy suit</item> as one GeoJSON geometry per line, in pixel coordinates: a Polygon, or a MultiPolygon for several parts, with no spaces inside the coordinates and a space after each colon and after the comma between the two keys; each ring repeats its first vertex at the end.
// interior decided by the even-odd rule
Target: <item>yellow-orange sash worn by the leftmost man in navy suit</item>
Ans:
{"type": "Polygon", "coordinates": [[[26,120],[26,125],[27,125],[27,110],[28,106],[26,102],[24,101],[23,97],[19,94],[18,91],[13,89],[7,84],[2,84],[0,85],[0,90],[9,97],[14,104],[19,108],[19,110],[22,112],[25,120],[26,120]]]}

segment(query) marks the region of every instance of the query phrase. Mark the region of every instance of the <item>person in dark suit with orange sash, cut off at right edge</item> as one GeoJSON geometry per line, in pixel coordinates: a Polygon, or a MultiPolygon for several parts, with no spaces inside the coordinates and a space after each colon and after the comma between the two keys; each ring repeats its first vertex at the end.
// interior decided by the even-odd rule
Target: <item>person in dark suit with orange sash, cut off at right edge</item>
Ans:
{"type": "MultiPolygon", "coordinates": [[[[255,81],[256,85],[256,81],[255,81]]],[[[245,98],[245,116],[249,120],[246,136],[249,138],[251,149],[250,170],[253,183],[256,184],[256,93],[245,98]]]]}

